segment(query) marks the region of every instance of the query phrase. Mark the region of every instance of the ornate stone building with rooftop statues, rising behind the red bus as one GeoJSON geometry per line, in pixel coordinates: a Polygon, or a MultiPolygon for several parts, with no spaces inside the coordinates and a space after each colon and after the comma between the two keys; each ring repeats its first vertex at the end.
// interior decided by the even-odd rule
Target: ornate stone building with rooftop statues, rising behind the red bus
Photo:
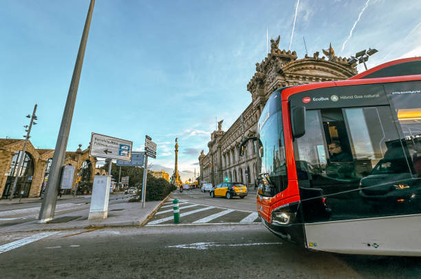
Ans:
{"type": "Polygon", "coordinates": [[[319,57],[319,52],[316,52],[311,57],[305,55],[303,59],[297,59],[296,52],[279,50],[279,37],[277,41],[270,41],[270,53],[261,63],[256,63],[256,72],[247,85],[251,94],[250,105],[226,132],[222,130],[220,121],[218,130],[210,136],[208,154],[205,155],[202,150],[199,156],[200,183],[216,185],[225,178],[254,183],[257,176],[255,148],[249,141],[245,156],[239,158],[238,147],[243,134],[246,137],[257,134],[257,121],[274,90],[291,85],[343,80],[357,74],[356,64],[351,65],[346,58],[334,56],[331,47],[323,50],[327,58],[319,57]]]}

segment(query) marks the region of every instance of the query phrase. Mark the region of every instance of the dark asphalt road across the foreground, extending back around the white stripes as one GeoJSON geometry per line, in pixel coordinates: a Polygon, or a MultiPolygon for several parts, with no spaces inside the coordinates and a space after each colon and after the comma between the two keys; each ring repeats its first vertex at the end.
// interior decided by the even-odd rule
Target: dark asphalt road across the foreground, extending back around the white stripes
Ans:
{"type": "MultiPolygon", "coordinates": [[[[208,194],[194,192],[174,196],[185,200],[185,207],[194,205],[184,213],[197,208],[228,208],[232,211],[224,216],[229,217],[229,222],[220,216],[218,220],[197,224],[195,220],[203,219],[204,215],[189,214],[188,218],[194,218],[184,218],[181,225],[170,222],[144,227],[0,234],[0,277],[420,278],[421,275],[421,258],[308,251],[277,238],[259,222],[241,223],[244,215],[236,211],[249,212],[251,208],[247,203],[237,202],[253,200],[252,196],[243,200],[209,200],[208,194]]],[[[209,210],[198,213],[215,214],[209,210]]],[[[151,221],[159,220],[156,218],[153,216],[151,221]]]]}

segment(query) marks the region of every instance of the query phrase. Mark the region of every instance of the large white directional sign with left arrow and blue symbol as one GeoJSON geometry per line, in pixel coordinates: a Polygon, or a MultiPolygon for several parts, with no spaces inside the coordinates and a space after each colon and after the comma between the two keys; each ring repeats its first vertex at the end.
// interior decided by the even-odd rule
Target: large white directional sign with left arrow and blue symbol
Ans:
{"type": "Polygon", "coordinates": [[[92,133],[89,155],[94,157],[130,161],[133,143],[121,138],[92,133]]]}

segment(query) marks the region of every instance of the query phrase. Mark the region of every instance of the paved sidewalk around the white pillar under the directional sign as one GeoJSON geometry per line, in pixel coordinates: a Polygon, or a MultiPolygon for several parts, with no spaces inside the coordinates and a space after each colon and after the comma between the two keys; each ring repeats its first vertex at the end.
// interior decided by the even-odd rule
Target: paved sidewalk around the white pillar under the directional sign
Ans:
{"type": "Polygon", "coordinates": [[[125,202],[109,205],[108,218],[101,220],[87,220],[89,215],[89,207],[87,207],[69,214],[56,216],[56,218],[46,224],[39,224],[37,220],[34,220],[8,227],[1,227],[0,233],[83,229],[89,227],[140,226],[147,222],[149,216],[158,210],[167,199],[168,196],[164,200],[146,202],[144,209],[142,209],[142,203],[125,202]]]}

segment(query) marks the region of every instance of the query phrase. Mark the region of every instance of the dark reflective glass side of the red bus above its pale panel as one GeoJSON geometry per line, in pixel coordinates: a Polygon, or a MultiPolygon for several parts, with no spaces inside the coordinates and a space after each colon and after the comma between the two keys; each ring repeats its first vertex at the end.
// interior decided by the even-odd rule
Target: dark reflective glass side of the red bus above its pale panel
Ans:
{"type": "Polygon", "coordinates": [[[305,223],[421,212],[421,94],[393,95],[401,94],[380,105],[335,101],[306,110],[305,135],[294,140],[305,223]]]}

